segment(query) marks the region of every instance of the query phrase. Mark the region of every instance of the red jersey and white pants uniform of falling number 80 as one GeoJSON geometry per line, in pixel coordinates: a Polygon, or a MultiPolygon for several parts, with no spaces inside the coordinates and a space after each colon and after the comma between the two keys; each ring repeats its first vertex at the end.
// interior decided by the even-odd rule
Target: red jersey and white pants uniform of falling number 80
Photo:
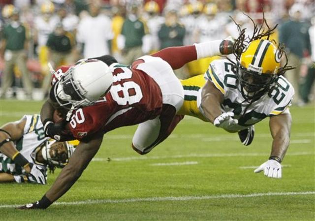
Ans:
{"type": "MultiPolygon", "coordinates": [[[[184,101],[183,87],[173,69],[197,59],[194,45],[163,49],[143,56],[131,68],[119,63],[109,67],[114,83],[94,105],[72,112],[68,128],[76,139],[106,133],[121,126],[139,124],[132,147],[140,154],[150,152],[183,119],[176,115],[184,101]]],[[[53,76],[55,84],[68,67],[53,76]]]]}

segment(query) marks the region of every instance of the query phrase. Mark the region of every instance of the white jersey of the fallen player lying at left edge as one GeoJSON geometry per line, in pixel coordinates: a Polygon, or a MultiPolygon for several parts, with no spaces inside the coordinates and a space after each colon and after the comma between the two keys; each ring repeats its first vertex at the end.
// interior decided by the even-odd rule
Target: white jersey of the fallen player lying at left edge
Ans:
{"type": "MultiPolygon", "coordinates": [[[[36,153],[40,150],[40,147],[48,140],[45,137],[44,126],[40,121],[40,116],[24,115],[26,124],[24,126],[23,136],[15,142],[16,149],[25,157],[29,162],[36,164],[39,169],[45,171],[46,165],[36,161],[36,153]]],[[[0,172],[10,173],[15,175],[14,178],[18,183],[23,182],[22,167],[14,163],[11,158],[6,157],[0,153],[0,172]]]]}

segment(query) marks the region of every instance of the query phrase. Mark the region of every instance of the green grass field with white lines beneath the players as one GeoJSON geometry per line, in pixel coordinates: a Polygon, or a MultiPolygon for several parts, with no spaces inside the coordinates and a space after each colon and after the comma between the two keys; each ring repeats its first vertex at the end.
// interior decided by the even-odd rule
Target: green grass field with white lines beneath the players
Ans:
{"type": "MultiPolygon", "coordinates": [[[[41,103],[0,100],[0,124],[39,113],[41,103]]],[[[269,157],[268,120],[244,147],[237,134],[185,118],[151,153],[130,147],[135,126],[105,135],[82,177],[44,211],[14,205],[41,198],[48,185],[0,184],[0,221],[314,221],[315,108],[292,107],[283,178],[254,174],[269,157]]]]}

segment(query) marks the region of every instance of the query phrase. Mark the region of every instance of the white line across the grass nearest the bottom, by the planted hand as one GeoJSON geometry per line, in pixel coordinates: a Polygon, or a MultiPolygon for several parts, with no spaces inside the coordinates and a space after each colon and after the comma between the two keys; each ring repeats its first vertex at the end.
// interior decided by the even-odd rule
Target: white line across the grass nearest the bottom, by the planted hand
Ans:
{"type": "MultiPolygon", "coordinates": [[[[129,199],[95,199],[74,202],[56,202],[53,205],[82,205],[82,204],[106,204],[106,203],[132,203],[132,202],[161,202],[161,201],[189,201],[189,200],[206,200],[206,199],[225,199],[225,198],[247,198],[259,196],[290,196],[290,195],[312,195],[315,191],[306,192],[261,192],[251,194],[222,194],[222,195],[205,195],[205,196],[166,196],[166,197],[149,197],[149,198],[129,198],[129,199]]],[[[22,205],[0,205],[0,208],[15,208],[22,205]]]]}

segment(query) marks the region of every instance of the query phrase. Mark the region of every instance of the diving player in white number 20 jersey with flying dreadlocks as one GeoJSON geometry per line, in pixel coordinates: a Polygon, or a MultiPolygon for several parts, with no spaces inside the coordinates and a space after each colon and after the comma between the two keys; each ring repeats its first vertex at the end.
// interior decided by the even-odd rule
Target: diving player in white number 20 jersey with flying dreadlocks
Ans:
{"type": "Polygon", "coordinates": [[[233,46],[236,60],[213,61],[205,80],[199,75],[182,81],[185,101],[178,114],[195,116],[228,132],[238,132],[246,146],[252,143],[254,124],[269,117],[273,137],[271,155],[254,172],[264,171],[265,176],[281,178],[280,163],[291,130],[288,107],[294,90],[283,76],[293,67],[287,66],[287,62],[280,64],[282,56],[286,58],[284,47],[268,40],[275,28],[264,31],[254,25],[251,38],[239,28],[240,37],[233,46]]]}

